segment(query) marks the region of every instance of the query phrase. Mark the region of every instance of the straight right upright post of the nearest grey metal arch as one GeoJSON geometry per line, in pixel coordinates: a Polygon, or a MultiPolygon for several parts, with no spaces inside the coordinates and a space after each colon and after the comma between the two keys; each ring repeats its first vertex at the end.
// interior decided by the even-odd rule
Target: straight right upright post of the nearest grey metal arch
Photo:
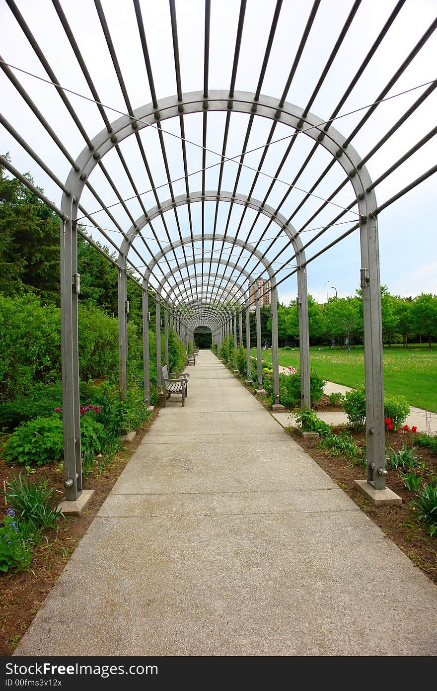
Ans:
{"type": "Polygon", "coordinates": [[[362,316],[366,381],[367,482],[385,489],[384,381],[382,374],[381,283],[376,217],[360,227],[362,316]]]}

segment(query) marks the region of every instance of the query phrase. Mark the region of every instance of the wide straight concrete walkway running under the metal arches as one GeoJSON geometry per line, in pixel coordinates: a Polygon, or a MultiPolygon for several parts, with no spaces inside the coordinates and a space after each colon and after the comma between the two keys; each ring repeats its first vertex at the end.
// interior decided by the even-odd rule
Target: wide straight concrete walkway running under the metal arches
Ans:
{"type": "Polygon", "coordinates": [[[201,351],[17,655],[433,655],[437,589],[201,351]]]}

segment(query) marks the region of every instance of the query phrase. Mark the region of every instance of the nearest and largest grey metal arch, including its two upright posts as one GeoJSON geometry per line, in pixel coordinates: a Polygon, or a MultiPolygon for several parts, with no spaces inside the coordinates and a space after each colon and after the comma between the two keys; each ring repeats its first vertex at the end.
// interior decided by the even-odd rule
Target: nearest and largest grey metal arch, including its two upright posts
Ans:
{"type": "MultiPolygon", "coordinates": [[[[278,99],[236,91],[230,97],[228,91],[210,91],[204,97],[202,91],[182,94],[181,98],[168,97],[157,103],[137,108],[133,117],[123,115],[111,124],[112,132],[102,130],[93,138],[91,146],[86,146],[72,167],[66,180],[62,196],[61,211],[64,214],[64,238],[61,238],[61,340],[62,340],[62,382],[65,410],[71,424],[64,422],[64,457],[67,500],[75,500],[81,493],[81,448],[79,421],[79,383],[77,376],[78,338],[77,338],[77,295],[71,296],[71,279],[77,272],[77,230],[75,219],[81,193],[90,173],[110,149],[133,134],[134,131],[160,122],[181,113],[210,111],[229,112],[233,110],[247,115],[257,115],[270,120],[278,120],[300,131],[306,125],[307,137],[317,140],[324,149],[336,157],[347,173],[356,194],[358,211],[361,217],[360,245],[362,267],[361,285],[363,290],[363,316],[365,323],[365,380],[366,380],[366,428],[367,428],[367,473],[368,481],[375,489],[385,489],[385,478],[379,471],[385,466],[385,429],[382,385],[382,320],[380,301],[380,272],[378,258],[378,227],[376,223],[376,196],[371,187],[367,167],[362,165],[356,149],[332,126],[323,131],[325,122],[312,113],[304,115],[302,108],[285,102],[280,107],[278,99]],[[309,126],[309,127],[308,127],[309,126]],[[361,167],[360,167],[361,166],[361,167]],[[71,401],[68,404],[68,401],[71,401]],[[68,411],[67,411],[68,404],[68,411]],[[382,421],[382,422],[381,422],[382,421]],[[79,479],[75,480],[78,473],[79,479]]],[[[62,235],[62,234],[61,234],[62,235]]]]}

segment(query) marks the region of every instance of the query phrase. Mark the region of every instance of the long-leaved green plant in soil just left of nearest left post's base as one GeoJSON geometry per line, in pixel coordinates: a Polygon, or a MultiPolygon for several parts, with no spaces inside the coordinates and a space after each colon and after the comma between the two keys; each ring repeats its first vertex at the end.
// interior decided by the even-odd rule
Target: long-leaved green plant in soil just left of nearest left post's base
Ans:
{"type": "Polygon", "coordinates": [[[64,515],[57,509],[55,489],[47,480],[28,483],[26,476],[14,477],[6,489],[6,500],[20,520],[32,523],[37,529],[55,528],[64,515]]]}

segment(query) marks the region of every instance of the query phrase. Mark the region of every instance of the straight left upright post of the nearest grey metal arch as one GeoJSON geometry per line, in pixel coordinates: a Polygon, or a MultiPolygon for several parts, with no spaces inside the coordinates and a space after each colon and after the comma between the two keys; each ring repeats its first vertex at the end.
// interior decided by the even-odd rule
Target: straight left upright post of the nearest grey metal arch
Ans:
{"type": "MultiPolygon", "coordinates": [[[[70,211],[76,217],[77,203],[70,207],[70,211]]],[[[77,500],[82,491],[75,274],[77,274],[77,229],[76,223],[72,223],[69,218],[68,221],[61,223],[61,377],[67,501],[77,500]]]]}

